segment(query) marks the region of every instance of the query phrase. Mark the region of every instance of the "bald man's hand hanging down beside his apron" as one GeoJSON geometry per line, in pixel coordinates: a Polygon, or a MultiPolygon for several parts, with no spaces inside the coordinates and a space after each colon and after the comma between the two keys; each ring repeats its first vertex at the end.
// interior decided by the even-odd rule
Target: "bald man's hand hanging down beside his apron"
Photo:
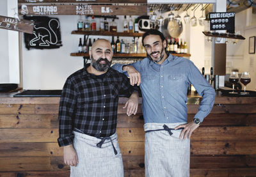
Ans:
{"type": "Polygon", "coordinates": [[[64,163],[71,166],[76,166],[78,163],[76,150],[73,148],[73,144],[64,146],[64,163]]]}

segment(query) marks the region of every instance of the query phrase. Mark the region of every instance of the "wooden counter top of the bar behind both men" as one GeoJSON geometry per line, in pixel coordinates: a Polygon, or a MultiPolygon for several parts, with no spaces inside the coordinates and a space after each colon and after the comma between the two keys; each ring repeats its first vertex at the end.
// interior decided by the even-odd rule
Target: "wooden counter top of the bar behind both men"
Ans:
{"type": "MultiPolygon", "coordinates": [[[[59,104],[60,97],[13,97],[18,92],[0,93],[0,104],[59,104]]],[[[188,94],[187,104],[200,104],[201,96],[191,92],[188,94]]],[[[142,98],[139,103],[141,104],[142,98]]],[[[127,98],[120,97],[119,104],[125,104],[127,98]]],[[[216,92],[214,104],[256,104],[256,97],[230,97],[223,96],[221,92],[216,92]]]]}

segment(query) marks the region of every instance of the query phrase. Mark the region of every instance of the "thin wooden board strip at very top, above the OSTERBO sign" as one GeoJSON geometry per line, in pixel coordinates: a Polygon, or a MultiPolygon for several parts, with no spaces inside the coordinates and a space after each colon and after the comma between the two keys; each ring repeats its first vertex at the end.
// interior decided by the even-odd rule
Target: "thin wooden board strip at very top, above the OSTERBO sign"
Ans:
{"type": "Polygon", "coordinates": [[[18,3],[147,3],[147,0],[18,0],[18,3]]]}

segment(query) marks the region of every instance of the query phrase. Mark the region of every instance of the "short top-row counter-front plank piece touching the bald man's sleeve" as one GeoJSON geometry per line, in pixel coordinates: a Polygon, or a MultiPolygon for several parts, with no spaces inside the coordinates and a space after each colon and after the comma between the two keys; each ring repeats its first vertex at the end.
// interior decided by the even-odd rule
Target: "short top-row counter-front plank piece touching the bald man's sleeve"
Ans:
{"type": "Polygon", "coordinates": [[[58,104],[35,105],[35,114],[58,114],[58,104]]]}

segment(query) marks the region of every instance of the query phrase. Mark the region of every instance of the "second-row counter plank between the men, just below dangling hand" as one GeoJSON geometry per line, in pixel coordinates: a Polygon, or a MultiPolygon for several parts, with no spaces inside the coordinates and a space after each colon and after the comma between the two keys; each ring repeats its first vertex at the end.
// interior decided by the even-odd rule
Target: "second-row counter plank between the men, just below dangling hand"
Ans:
{"type": "Polygon", "coordinates": [[[117,115],[117,125],[118,128],[142,128],[144,125],[143,115],[141,113],[127,116],[127,114],[117,115]]]}

